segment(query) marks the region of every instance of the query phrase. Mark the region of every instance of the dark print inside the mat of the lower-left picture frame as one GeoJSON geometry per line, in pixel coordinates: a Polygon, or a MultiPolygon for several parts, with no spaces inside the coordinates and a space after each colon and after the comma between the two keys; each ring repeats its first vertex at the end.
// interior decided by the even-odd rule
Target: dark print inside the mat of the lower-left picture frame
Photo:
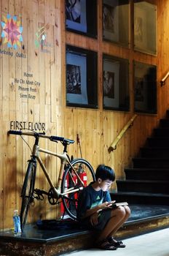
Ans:
{"type": "Polygon", "coordinates": [[[66,93],[82,94],[80,67],[76,65],[67,64],[66,69],[67,69],[66,93]]]}

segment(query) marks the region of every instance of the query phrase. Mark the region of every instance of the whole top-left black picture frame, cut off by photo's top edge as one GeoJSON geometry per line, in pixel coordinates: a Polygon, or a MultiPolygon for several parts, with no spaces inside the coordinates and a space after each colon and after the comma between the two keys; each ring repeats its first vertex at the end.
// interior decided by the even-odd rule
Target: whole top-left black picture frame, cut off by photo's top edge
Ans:
{"type": "Polygon", "coordinates": [[[66,30],[97,38],[97,0],[66,0],[66,30]]]}

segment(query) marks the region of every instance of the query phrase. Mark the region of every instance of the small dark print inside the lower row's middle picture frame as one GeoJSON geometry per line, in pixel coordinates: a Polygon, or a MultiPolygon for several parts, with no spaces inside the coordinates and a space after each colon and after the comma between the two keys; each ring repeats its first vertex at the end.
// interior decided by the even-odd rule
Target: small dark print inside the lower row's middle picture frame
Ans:
{"type": "Polygon", "coordinates": [[[103,96],[114,99],[114,72],[103,71],[103,96]]]}

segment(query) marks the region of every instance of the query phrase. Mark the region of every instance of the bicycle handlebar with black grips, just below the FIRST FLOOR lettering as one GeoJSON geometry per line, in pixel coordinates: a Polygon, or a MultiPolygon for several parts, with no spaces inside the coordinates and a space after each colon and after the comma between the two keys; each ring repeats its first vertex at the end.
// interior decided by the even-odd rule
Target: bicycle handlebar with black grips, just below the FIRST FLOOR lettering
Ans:
{"type": "Polygon", "coordinates": [[[27,135],[27,136],[34,136],[34,137],[40,137],[40,138],[47,138],[51,141],[55,141],[55,142],[66,142],[66,143],[74,143],[74,140],[69,140],[63,137],[58,137],[58,136],[47,136],[45,135],[45,133],[38,133],[38,132],[22,132],[22,131],[16,131],[16,130],[12,130],[10,129],[8,132],[8,134],[11,135],[27,135]]]}

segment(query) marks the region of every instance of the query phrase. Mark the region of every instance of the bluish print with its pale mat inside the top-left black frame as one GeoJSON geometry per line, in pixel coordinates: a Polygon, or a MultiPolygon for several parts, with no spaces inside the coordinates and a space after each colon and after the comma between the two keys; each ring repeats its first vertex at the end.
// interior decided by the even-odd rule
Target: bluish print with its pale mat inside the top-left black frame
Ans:
{"type": "Polygon", "coordinates": [[[66,27],[87,32],[86,0],[66,0],[66,27]]]}

